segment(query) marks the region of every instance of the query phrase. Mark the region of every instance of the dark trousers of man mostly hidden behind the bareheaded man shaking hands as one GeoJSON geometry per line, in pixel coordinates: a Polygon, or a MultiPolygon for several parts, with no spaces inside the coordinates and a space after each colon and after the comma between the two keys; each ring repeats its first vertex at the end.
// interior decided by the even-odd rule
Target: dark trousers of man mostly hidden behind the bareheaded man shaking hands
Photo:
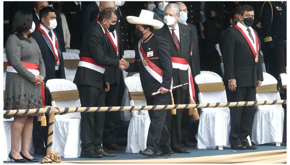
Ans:
{"type": "MultiPolygon", "coordinates": [[[[119,85],[117,83],[110,84],[110,89],[105,96],[105,106],[117,106],[118,105],[118,90],[119,85]]],[[[114,128],[117,118],[117,111],[106,111],[104,130],[103,130],[103,146],[114,144],[114,128]]]]}

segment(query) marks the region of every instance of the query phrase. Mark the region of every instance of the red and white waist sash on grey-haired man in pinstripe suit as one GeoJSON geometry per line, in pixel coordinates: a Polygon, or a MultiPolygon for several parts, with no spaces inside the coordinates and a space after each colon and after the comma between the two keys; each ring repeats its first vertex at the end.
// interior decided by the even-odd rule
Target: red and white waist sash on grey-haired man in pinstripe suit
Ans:
{"type": "Polygon", "coordinates": [[[194,84],[193,84],[193,77],[191,74],[191,69],[188,64],[188,61],[184,58],[179,58],[175,56],[171,56],[172,60],[172,67],[178,68],[180,70],[188,70],[188,90],[191,100],[195,101],[195,92],[194,92],[194,84]]]}

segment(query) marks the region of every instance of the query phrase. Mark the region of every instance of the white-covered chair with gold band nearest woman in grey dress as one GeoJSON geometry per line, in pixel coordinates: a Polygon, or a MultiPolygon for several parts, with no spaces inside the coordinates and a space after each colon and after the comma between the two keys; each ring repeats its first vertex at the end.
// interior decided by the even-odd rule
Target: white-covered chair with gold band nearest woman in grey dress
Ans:
{"type": "MultiPolygon", "coordinates": [[[[66,79],[49,79],[46,87],[53,107],[80,107],[76,85],[66,79]]],[[[63,157],[80,155],[80,112],[55,115],[52,150],[63,157]]]]}

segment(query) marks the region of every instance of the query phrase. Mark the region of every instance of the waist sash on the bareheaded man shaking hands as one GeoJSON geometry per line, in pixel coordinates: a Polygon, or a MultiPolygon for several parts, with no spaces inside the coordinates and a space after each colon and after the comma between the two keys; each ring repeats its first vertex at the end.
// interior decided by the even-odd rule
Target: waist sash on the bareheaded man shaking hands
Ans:
{"type": "Polygon", "coordinates": [[[97,64],[93,58],[87,56],[80,56],[77,66],[86,67],[102,74],[106,68],[106,66],[97,64]]]}

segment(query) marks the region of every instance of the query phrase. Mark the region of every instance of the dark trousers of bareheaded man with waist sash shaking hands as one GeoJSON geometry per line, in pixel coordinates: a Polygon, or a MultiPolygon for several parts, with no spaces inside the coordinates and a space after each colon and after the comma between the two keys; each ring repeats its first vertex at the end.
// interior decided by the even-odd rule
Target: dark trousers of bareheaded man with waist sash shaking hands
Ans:
{"type": "MultiPolygon", "coordinates": [[[[106,92],[90,85],[77,85],[81,106],[104,106],[106,92]]],[[[81,149],[89,151],[101,148],[105,112],[80,113],[81,149]]]]}

